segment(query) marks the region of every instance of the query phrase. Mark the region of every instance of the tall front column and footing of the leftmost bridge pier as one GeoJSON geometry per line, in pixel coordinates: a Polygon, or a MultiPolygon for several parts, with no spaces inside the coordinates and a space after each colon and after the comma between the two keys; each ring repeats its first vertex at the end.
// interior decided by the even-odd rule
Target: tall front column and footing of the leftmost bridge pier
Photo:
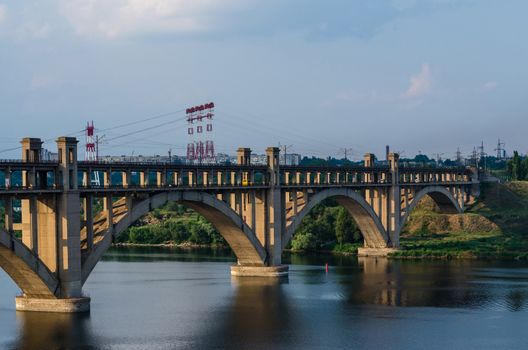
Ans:
{"type": "Polygon", "coordinates": [[[39,258],[58,275],[58,299],[16,298],[19,311],[81,312],[90,308],[82,296],[80,198],[77,181],[77,140],[57,139],[57,182],[63,191],[56,197],[39,198],[37,208],[39,258]]]}

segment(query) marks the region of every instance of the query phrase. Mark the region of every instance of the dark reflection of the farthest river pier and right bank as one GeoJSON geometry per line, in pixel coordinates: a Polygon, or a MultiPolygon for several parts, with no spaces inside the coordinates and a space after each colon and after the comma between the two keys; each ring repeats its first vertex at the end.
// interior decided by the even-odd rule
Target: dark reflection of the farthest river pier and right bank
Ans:
{"type": "Polygon", "coordinates": [[[336,271],[341,276],[340,284],[348,302],[353,304],[450,308],[505,306],[515,311],[526,308],[528,301],[528,276],[511,280],[504,272],[489,274],[486,262],[358,258],[358,265],[361,273],[355,276],[351,276],[349,269],[336,271]],[[498,278],[508,282],[496,283],[498,278]]]}

